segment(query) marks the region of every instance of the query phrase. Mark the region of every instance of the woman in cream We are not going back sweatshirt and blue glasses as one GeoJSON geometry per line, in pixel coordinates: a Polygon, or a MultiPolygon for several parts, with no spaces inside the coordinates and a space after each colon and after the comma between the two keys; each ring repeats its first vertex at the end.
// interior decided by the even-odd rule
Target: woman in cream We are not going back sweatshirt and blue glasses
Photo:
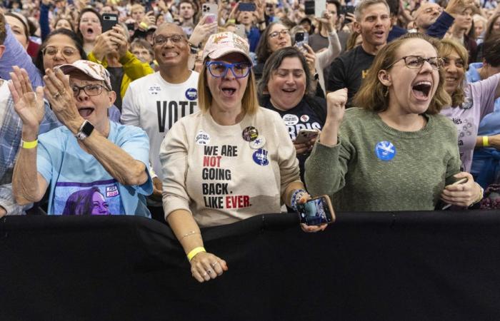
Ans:
{"type": "Polygon", "coordinates": [[[281,117],[258,106],[248,43],[231,32],[213,34],[203,61],[200,111],[175,123],[160,149],[166,220],[199,282],[228,269],[206,252],[200,228],[279,213],[284,203],[309,198],[281,117]]]}

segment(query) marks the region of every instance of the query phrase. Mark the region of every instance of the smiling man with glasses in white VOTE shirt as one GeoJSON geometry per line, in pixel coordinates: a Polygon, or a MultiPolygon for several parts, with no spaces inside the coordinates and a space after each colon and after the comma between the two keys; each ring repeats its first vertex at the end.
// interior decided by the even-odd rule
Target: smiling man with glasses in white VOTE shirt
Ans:
{"type": "Polygon", "coordinates": [[[159,26],[154,34],[153,50],[159,71],[130,84],[124,97],[121,121],[144,129],[149,136],[154,192],[148,204],[153,218],[163,221],[160,146],[176,121],[198,111],[199,73],[188,68],[189,42],[180,26],[159,26]]]}

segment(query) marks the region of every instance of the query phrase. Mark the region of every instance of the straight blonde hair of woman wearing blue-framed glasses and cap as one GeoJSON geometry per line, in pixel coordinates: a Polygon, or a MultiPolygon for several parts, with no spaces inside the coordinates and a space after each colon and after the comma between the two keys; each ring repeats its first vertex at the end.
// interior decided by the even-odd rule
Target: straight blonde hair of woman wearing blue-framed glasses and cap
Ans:
{"type": "MultiPolygon", "coordinates": [[[[203,66],[201,67],[200,76],[198,78],[198,107],[203,113],[209,111],[212,104],[212,93],[209,89],[209,84],[206,80],[206,62],[209,58],[205,58],[203,66]]],[[[231,72],[231,71],[228,71],[231,72]]],[[[249,80],[246,83],[245,93],[241,98],[241,108],[245,113],[254,115],[259,108],[259,101],[257,100],[257,91],[255,88],[254,71],[250,69],[249,80]]]]}

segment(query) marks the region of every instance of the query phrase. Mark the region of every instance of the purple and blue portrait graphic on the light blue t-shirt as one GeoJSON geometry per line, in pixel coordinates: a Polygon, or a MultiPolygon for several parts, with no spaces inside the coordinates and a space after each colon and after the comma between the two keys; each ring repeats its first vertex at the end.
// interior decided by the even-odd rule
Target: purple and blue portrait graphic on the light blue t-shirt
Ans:
{"type": "Polygon", "coordinates": [[[125,214],[116,180],[92,183],[58,182],[54,213],[59,215],[125,214]]]}

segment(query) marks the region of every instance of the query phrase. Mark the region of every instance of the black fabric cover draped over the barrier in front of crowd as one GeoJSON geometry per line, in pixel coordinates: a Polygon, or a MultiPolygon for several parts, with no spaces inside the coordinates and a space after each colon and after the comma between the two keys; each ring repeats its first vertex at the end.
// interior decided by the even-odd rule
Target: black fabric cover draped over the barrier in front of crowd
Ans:
{"type": "Polygon", "coordinates": [[[0,320],[499,320],[500,212],[296,215],[203,232],[229,271],[199,284],[168,226],[0,219],[0,320]]]}

